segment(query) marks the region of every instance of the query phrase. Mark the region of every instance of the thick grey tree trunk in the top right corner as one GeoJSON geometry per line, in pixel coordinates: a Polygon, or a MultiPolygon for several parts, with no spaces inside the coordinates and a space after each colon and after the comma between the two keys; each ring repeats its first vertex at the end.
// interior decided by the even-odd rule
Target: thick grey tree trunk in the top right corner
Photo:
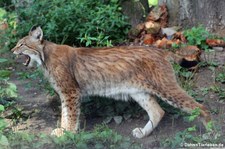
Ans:
{"type": "Polygon", "coordinates": [[[162,3],[168,7],[170,26],[203,25],[209,31],[225,31],[224,0],[159,0],[162,3]]]}

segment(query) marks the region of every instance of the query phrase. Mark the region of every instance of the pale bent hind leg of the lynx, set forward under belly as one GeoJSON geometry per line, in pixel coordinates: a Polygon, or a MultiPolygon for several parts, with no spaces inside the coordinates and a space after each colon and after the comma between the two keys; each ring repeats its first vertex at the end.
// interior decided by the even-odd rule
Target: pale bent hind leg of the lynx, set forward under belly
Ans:
{"type": "Polygon", "coordinates": [[[135,128],[132,133],[136,138],[148,136],[153,129],[158,125],[164,115],[164,111],[156,102],[155,97],[146,94],[138,93],[131,97],[147,112],[149,121],[144,128],[135,128]]]}

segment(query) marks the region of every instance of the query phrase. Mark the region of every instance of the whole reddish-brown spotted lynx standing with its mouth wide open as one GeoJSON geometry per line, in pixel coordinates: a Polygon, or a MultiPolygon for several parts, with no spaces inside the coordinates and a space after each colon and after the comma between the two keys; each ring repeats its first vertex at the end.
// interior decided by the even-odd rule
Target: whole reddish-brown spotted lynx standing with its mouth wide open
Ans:
{"type": "Polygon", "coordinates": [[[135,128],[136,138],[148,136],[164,115],[156,98],[187,113],[200,109],[203,124],[210,121],[207,109],[179,87],[168,52],[143,46],[74,48],[43,39],[40,27],[18,41],[14,54],[25,55],[27,67],[41,67],[61,99],[61,127],[76,133],[83,96],[103,96],[128,101],[133,99],[148,114],[143,128],[135,128]]]}

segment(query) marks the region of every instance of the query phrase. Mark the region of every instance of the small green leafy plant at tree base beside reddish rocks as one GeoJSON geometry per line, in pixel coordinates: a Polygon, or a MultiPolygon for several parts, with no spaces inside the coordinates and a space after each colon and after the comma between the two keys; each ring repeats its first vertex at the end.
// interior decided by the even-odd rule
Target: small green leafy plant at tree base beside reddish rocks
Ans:
{"type": "Polygon", "coordinates": [[[189,45],[196,45],[202,50],[208,49],[206,39],[210,36],[210,33],[202,26],[184,31],[184,36],[187,38],[189,45]]]}

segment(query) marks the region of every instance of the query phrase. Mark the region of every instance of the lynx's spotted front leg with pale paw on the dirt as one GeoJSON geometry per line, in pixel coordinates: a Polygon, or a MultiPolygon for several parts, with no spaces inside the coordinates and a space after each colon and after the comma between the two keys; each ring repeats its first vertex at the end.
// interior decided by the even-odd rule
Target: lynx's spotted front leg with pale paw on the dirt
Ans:
{"type": "Polygon", "coordinates": [[[79,128],[80,96],[76,91],[68,89],[59,93],[61,98],[61,128],[53,130],[52,135],[61,136],[64,130],[77,132],[79,128]]]}

